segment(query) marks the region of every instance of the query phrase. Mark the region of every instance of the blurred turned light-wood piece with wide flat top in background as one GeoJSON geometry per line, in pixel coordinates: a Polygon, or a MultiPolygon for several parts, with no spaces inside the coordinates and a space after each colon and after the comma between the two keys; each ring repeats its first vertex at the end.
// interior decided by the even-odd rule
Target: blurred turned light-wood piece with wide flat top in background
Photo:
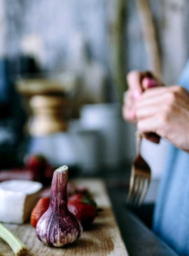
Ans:
{"type": "MultiPolygon", "coordinates": [[[[74,89],[76,80],[70,81],[74,89]]],[[[66,83],[66,82],[65,82],[66,83]]],[[[27,132],[32,136],[45,136],[67,130],[69,100],[64,83],[48,79],[25,79],[17,83],[17,90],[26,99],[29,113],[27,132]]]]}

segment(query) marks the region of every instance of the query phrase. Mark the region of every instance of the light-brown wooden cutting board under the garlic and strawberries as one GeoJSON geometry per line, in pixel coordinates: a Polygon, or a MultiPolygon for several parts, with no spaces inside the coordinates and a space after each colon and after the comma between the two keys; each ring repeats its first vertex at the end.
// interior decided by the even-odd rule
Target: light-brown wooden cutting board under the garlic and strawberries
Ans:
{"type": "MultiPolygon", "coordinates": [[[[90,229],[84,231],[73,244],[63,248],[52,248],[45,246],[37,238],[35,229],[29,223],[5,226],[24,242],[28,256],[128,256],[104,182],[100,179],[83,179],[74,182],[86,186],[103,211],[96,217],[90,229]]],[[[2,239],[0,239],[0,256],[13,256],[10,247],[2,239]]]]}

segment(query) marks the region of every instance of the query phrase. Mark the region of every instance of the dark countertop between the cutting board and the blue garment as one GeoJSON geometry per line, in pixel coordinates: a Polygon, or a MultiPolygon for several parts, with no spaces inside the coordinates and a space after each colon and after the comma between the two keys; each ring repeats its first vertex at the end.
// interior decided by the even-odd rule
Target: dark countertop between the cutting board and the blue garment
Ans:
{"type": "MultiPolygon", "coordinates": [[[[105,178],[105,180],[113,210],[129,256],[178,255],[166,243],[159,239],[152,230],[137,217],[128,205],[126,205],[127,194],[125,189],[123,189],[123,183],[119,182],[118,179],[110,180],[105,178]]],[[[140,212],[140,210],[137,211],[140,212]]],[[[146,214],[149,214],[149,212],[146,212],[146,214]]],[[[142,216],[145,217],[144,207],[142,216]]]]}

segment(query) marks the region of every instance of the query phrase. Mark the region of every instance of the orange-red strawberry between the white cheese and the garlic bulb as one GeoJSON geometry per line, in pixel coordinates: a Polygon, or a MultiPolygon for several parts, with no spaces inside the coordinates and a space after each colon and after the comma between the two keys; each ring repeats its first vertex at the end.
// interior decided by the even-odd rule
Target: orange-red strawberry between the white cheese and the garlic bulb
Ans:
{"type": "Polygon", "coordinates": [[[30,216],[30,223],[35,228],[40,217],[46,212],[49,207],[50,198],[42,197],[38,200],[37,204],[33,208],[30,216]]]}

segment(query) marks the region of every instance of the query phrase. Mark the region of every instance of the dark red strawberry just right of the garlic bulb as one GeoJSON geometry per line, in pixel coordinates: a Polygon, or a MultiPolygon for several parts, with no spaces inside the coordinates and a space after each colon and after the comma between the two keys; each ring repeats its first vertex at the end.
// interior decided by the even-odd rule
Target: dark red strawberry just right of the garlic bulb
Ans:
{"type": "Polygon", "coordinates": [[[68,200],[67,207],[81,221],[84,228],[89,226],[97,215],[95,201],[83,194],[71,196],[68,200]]]}

